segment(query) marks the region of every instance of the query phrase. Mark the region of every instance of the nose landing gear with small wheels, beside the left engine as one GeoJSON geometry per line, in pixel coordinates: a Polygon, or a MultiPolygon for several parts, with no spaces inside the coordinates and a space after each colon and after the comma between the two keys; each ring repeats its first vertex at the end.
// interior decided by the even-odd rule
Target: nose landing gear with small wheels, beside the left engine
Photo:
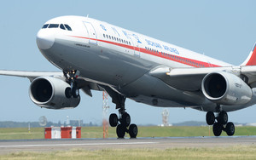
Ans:
{"type": "Polygon", "coordinates": [[[71,97],[78,98],[79,97],[79,88],[76,83],[77,78],[79,77],[79,71],[63,71],[64,76],[66,77],[67,83],[70,84],[70,88],[65,90],[65,95],[69,99],[71,97]]]}

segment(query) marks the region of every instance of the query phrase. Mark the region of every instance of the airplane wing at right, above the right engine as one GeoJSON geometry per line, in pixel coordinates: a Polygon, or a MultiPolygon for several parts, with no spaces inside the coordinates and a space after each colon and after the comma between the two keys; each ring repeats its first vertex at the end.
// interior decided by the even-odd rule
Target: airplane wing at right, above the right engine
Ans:
{"type": "Polygon", "coordinates": [[[186,91],[201,89],[202,79],[213,71],[228,71],[244,80],[251,88],[256,87],[256,66],[227,66],[211,68],[170,68],[159,66],[150,71],[149,74],[160,78],[166,84],[186,91]]]}

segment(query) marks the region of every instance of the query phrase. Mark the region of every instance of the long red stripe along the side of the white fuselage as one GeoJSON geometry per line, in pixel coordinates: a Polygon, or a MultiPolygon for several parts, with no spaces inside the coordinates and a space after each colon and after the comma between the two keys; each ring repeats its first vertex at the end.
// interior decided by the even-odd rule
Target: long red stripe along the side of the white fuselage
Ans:
{"type": "MultiPolygon", "coordinates": [[[[70,36],[70,37],[79,37],[79,36],[70,36]]],[[[157,52],[157,51],[154,52],[152,50],[138,48],[138,47],[134,47],[134,46],[123,44],[123,43],[115,43],[115,42],[106,41],[106,40],[102,40],[102,39],[94,39],[94,38],[89,38],[89,37],[79,37],[79,38],[91,39],[91,40],[99,41],[99,42],[102,42],[102,43],[109,43],[109,44],[113,44],[113,45],[116,45],[116,46],[119,46],[119,47],[123,47],[125,49],[133,49],[133,50],[136,50],[136,51],[141,52],[143,54],[154,55],[154,56],[166,59],[166,60],[172,60],[172,61],[175,61],[175,62],[178,62],[178,63],[182,63],[182,64],[188,65],[188,66],[194,66],[194,67],[218,67],[218,65],[213,65],[213,64],[209,64],[209,63],[204,62],[204,61],[193,60],[193,59],[177,56],[176,54],[166,54],[166,53],[157,52]]],[[[254,49],[254,50],[256,50],[256,49],[254,49]]]]}

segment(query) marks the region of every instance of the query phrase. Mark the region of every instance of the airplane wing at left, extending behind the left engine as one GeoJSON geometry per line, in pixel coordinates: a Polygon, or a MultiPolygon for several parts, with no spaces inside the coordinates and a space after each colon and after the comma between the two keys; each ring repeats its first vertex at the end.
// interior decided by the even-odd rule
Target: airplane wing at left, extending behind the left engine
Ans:
{"type": "MultiPolygon", "coordinates": [[[[0,70],[0,75],[14,76],[14,77],[26,77],[31,82],[37,77],[57,77],[65,80],[63,72],[61,71],[5,71],[0,70]]],[[[78,87],[82,89],[85,94],[92,96],[90,90],[102,90],[100,83],[90,80],[86,77],[78,77],[78,87]]]]}

